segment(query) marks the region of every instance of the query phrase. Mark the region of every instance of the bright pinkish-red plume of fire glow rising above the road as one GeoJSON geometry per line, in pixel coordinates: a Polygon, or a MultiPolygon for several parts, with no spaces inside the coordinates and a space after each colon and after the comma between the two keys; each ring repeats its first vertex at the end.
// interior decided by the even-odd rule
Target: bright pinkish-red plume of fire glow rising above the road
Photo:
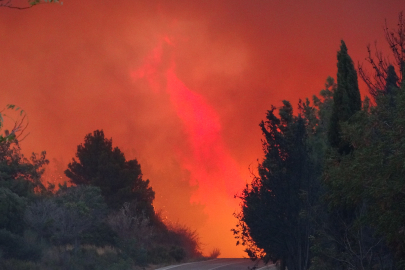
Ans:
{"type": "MultiPolygon", "coordinates": [[[[165,36],[164,43],[151,51],[143,66],[132,72],[132,77],[146,79],[154,93],[166,88],[182,121],[188,147],[186,151],[177,148],[176,153],[182,168],[190,174],[190,184],[197,187],[191,202],[204,205],[208,215],[204,228],[199,230],[205,253],[221,247],[226,257],[242,256],[235,248],[230,228],[234,226],[232,214],[237,210],[234,195],[243,188],[243,178],[223,143],[220,119],[215,110],[177,77],[173,56],[169,57],[171,63],[166,70],[162,68],[163,46],[174,44],[165,36]]],[[[170,50],[165,51],[170,53],[170,50]]],[[[175,188],[175,183],[173,186],[175,188]]]]}

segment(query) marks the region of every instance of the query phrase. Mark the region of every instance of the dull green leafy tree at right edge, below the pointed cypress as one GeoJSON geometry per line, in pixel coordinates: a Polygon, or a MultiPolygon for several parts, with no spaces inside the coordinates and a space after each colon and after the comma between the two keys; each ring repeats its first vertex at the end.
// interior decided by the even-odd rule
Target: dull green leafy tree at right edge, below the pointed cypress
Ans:
{"type": "MultiPolygon", "coordinates": [[[[351,244],[352,250],[357,249],[357,258],[351,258],[357,265],[381,258],[391,259],[384,262],[385,267],[392,264],[388,252],[378,250],[381,244],[387,244],[397,259],[405,262],[405,87],[391,91],[390,95],[377,96],[376,106],[363,106],[350,123],[342,125],[342,134],[352,143],[353,154],[330,156],[324,172],[328,203],[334,208],[350,207],[357,212],[351,223],[345,222],[354,229],[352,241],[346,243],[351,244]],[[364,244],[360,236],[366,235],[365,228],[369,230],[369,239],[364,240],[369,246],[358,246],[364,244]],[[362,234],[358,233],[360,229],[362,234]],[[377,254],[380,258],[373,258],[377,254]]],[[[388,269],[383,266],[381,269],[388,269]]]]}

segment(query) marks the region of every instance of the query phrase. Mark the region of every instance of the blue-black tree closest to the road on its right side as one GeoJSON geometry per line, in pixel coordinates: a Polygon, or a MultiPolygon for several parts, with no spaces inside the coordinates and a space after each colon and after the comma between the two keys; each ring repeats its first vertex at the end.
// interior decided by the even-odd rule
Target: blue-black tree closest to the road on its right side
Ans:
{"type": "Polygon", "coordinates": [[[273,107],[260,124],[265,159],[259,176],[240,196],[242,211],[236,214],[239,224],[233,231],[249,256],[262,250],[259,256],[280,260],[281,269],[307,269],[315,170],[306,143],[306,120],[294,116],[291,104],[283,102],[280,118],[273,107]]]}

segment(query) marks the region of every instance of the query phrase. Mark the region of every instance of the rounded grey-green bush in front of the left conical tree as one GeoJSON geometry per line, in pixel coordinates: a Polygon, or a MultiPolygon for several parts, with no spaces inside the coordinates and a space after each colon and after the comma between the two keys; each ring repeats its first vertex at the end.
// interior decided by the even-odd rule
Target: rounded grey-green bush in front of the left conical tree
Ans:
{"type": "Polygon", "coordinates": [[[83,233],[89,236],[89,230],[99,226],[106,207],[97,187],[62,186],[53,198],[29,205],[25,220],[39,236],[55,244],[77,244],[83,233]]]}

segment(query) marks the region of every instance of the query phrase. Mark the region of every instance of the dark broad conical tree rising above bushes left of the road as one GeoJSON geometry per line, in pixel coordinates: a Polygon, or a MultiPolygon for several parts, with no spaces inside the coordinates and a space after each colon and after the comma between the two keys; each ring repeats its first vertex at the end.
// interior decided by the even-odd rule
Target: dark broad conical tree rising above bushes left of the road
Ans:
{"type": "Polygon", "coordinates": [[[136,159],[126,160],[112,139],[104,137],[102,130],[89,133],[84,144],[77,147],[76,157],[65,171],[75,185],[93,185],[101,189],[109,207],[120,209],[125,202],[136,202],[139,214],[154,214],[152,202],[155,192],[149,180],[142,179],[141,166],[136,159]]]}

